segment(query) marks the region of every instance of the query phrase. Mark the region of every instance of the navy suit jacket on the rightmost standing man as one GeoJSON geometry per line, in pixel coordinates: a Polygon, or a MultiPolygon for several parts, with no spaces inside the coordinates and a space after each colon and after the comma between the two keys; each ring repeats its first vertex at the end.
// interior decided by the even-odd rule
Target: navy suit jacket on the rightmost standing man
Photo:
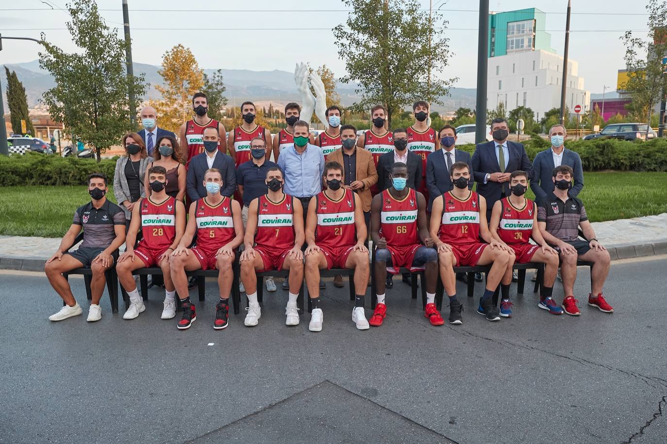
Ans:
{"type": "MultiPolygon", "coordinates": [[[[574,170],[574,185],[568,193],[576,197],[584,188],[584,169],[582,159],[578,153],[565,148],[561,165],[569,165],[574,170]]],[[[533,177],[530,179],[530,189],[535,193],[535,200],[540,202],[554,191],[554,156],[551,148],[540,151],[533,160],[533,177]]]]}

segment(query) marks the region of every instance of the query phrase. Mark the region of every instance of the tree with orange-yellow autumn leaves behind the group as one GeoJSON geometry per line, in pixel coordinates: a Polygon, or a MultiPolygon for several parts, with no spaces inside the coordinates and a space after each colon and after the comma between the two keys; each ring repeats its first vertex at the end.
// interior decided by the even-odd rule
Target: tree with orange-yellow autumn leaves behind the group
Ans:
{"type": "Polygon", "coordinates": [[[181,124],[192,115],[192,96],[203,87],[203,70],[189,48],[180,43],[162,57],[162,69],[157,71],[164,85],[155,89],[161,99],[149,101],[159,116],[159,125],[178,133],[181,124]]]}

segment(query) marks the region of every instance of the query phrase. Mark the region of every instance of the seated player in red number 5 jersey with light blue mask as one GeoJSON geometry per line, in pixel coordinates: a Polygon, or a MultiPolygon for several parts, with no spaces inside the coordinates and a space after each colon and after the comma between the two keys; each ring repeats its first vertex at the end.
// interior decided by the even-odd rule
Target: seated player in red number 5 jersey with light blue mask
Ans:
{"type": "Polygon", "coordinates": [[[177,327],[188,329],[197,319],[195,306],[190,301],[185,271],[218,269],[217,285],[220,300],[215,305],[216,330],[227,327],[229,320],[229,291],[233,274],[231,264],[236,256],[236,249],[243,242],[243,221],[241,205],[229,197],[220,194],[222,175],[215,168],[204,174],[206,197],[197,199],[190,205],[189,218],[185,233],[176,250],[171,253],[171,279],[181,299],[183,317],[177,327]],[[197,235],[197,243],[187,248],[197,235]]]}

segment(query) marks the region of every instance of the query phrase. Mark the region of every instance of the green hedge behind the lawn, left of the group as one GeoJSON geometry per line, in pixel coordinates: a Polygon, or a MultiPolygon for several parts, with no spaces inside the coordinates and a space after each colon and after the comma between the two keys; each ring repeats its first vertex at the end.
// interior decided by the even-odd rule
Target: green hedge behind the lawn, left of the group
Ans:
{"type": "Polygon", "coordinates": [[[91,173],[104,173],[113,182],[116,159],[79,159],[27,153],[0,155],[0,186],[13,185],[85,185],[91,173]]]}

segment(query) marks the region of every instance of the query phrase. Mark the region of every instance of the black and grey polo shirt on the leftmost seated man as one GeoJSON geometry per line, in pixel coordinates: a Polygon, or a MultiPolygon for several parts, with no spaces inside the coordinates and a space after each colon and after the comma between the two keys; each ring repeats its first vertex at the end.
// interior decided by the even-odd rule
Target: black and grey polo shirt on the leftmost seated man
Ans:
{"type": "Polygon", "coordinates": [[[125,225],[125,212],[109,199],[99,209],[90,201],[77,208],[72,223],[83,227],[81,247],[106,248],[116,237],[114,225],[125,225]]]}

